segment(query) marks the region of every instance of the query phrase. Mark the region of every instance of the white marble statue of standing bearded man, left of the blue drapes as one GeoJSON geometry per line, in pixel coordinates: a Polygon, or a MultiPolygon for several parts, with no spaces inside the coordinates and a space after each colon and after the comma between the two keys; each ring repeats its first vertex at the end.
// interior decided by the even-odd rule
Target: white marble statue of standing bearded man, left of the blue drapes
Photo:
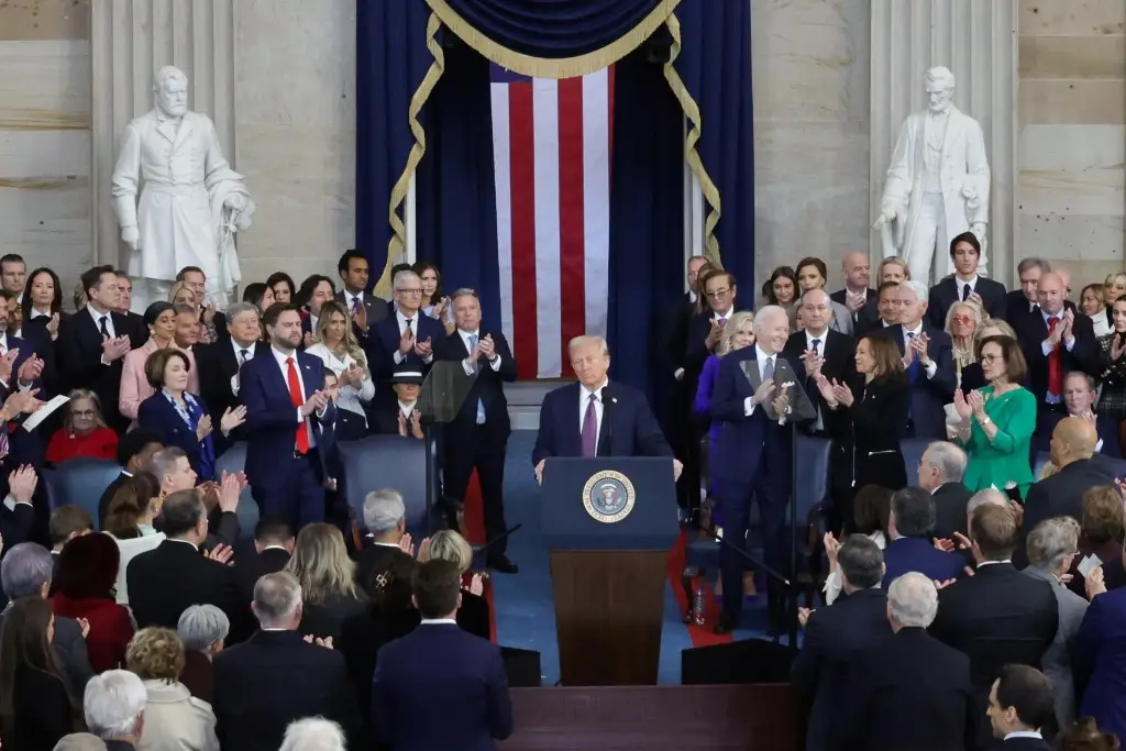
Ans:
{"type": "Polygon", "coordinates": [[[125,128],[113,175],[134,310],[168,299],[186,266],[207,276],[207,301],[197,302],[223,307],[242,278],[234,232],[250,226],[254,203],[223,158],[211,118],[188,110],[184,71],[160,69],[153,91],[157,106],[125,128]]]}

